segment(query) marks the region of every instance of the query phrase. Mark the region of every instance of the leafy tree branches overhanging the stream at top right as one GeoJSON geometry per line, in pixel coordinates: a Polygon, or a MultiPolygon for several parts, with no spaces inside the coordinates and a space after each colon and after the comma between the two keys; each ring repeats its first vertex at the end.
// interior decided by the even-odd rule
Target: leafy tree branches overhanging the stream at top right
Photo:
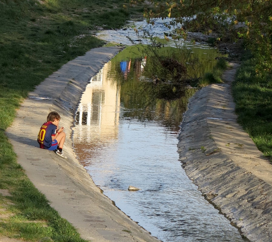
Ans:
{"type": "Polygon", "coordinates": [[[146,9],[144,17],[150,23],[156,18],[173,18],[168,27],[176,27],[174,38],[186,38],[188,31],[196,31],[216,32],[218,40],[243,39],[257,58],[256,72],[271,73],[271,0],[151,0],[151,4],[154,8],[146,9]]]}

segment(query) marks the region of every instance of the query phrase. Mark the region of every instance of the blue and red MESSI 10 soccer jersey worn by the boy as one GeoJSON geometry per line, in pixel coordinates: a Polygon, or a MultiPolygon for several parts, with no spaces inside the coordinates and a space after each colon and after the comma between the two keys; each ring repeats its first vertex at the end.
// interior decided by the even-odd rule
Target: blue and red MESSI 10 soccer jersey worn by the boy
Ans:
{"type": "Polygon", "coordinates": [[[40,148],[49,149],[52,145],[52,136],[56,135],[57,126],[52,124],[51,121],[44,123],[38,134],[38,143],[40,148]]]}

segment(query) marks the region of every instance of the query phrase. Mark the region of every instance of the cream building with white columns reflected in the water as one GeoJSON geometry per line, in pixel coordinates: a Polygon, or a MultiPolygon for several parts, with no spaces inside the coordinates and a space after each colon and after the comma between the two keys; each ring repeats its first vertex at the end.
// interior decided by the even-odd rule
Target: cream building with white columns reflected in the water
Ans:
{"type": "Polygon", "coordinates": [[[76,114],[74,143],[109,142],[116,139],[120,112],[120,86],[107,79],[110,63],[94,76],[82,94],[76,114]],[[90,135],[90,133],[92,135],[90,135]],[[107,133],[107,138],[104,135],[107,133]]]}

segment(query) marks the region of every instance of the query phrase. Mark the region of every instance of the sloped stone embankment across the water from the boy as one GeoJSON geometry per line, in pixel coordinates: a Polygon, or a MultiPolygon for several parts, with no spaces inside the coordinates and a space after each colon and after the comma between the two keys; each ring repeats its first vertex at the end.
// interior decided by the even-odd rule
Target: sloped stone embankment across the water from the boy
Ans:
{"type": "Polygon", "coordinates": [[[202,194],[253,242],[272,241],[272,165],[236,122],[230,85],[198,91],[179,135],[182,166],[202,194]]]}

